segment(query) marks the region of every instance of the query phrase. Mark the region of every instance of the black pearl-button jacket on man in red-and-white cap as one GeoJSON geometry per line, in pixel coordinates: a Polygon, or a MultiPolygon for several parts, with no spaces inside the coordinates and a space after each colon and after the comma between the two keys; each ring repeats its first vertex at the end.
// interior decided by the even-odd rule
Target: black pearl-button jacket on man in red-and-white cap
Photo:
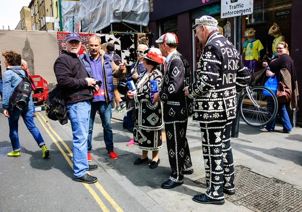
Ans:
{"type": "Polygon", "coordinates": [[[159,99],[164,103],[164,121],[184,122],[193,112],[193,100],[188,98],[183,89],[192,80],[189,62],[175,51],[166,63],[162,91],[159,99]]]}

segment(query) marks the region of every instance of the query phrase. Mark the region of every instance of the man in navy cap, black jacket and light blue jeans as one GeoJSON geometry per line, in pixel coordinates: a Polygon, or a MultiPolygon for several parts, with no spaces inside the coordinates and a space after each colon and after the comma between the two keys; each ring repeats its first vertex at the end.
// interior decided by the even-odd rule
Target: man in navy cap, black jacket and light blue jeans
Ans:
{"type": "Polygon", "coordinates": [[[92,89],[98,91],[96,80],[90,78],[82,60],[78,58],[81,38],[78,33],[69,33],[66,37],[66,51],[56,59],[53,69],[64,92],[68,119],[72,129],[72,161],[75,181],[95,183],[96,177],[87,171],[96,170],[98,165],[88,165],[87,139],[90,117],[90,100],[94,98],[92,89]]]}

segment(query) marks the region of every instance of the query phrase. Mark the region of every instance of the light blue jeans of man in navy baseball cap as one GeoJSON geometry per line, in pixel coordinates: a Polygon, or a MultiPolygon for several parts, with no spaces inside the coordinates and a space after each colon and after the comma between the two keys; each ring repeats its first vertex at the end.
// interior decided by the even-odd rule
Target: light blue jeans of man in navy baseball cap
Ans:
{"type": "Polygon", "coordinates": [[[90,102],[78,102],[66,105],[68,119],[72,129],[73,177],[82,177],[88,170],[87,137],[90,117],[90,102]]]}

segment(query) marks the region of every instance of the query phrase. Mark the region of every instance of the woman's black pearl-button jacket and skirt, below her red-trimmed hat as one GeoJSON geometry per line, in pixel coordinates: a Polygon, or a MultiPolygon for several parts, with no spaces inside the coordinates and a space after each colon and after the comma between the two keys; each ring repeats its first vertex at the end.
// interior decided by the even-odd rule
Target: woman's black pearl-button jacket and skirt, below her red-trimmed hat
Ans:
{"type": "Polygon", "coordinates": [[[134,94],[134,109],[133,109],[133,138],[134,145],[137,145],[141,150],[157,151],[162,149],[162,128],[163,121],[163,104],[161,102],[153,103],[150,95],[150,81],[158,80],[159,88],[162,85],[162,73],[158,69],[152,70],[146,78],[144,70],[137,78],[142,84],[136,88],[134,94]]]}

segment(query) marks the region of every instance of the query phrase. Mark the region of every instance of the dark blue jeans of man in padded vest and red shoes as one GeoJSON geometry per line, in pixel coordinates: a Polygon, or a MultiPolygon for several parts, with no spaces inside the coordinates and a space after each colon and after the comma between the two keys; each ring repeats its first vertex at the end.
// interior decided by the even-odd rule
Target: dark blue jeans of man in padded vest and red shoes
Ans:
{"type": "Polygon", "coordinates": [[[107,151],[113,150],[113,134],[111,129],[111,103],[107,103],[105,101],[93,102],[91,104],[91,113],[90,113],[90,121],[89,121],[89,134],[88,134],[88,152],[91,151],[92,148],[92,131],[94,119],[96,117],[97,110],[100,113],[100,118],[102,120],[103,132],[104,132],[104,141],[106,145],[107,151]]]}

